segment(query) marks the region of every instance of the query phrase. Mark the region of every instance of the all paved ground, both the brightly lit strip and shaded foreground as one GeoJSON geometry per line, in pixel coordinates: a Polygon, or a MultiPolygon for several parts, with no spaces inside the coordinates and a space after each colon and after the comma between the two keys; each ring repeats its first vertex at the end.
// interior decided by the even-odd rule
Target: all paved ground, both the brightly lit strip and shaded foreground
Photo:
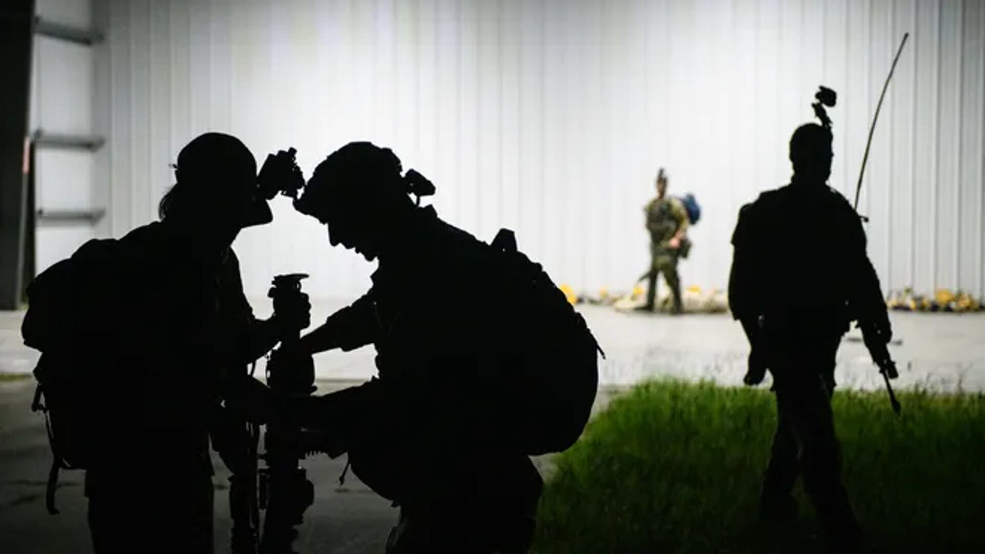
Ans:
{"type": "MultiPolygon", "coordinates": [[[[338,307],[316,305],[315,319],[338,307]]],[[[608,354],[601,366],[606,386],[597,407],[624,385],[641,379],[677,376],[738,384],[745,371],[745,338],[728,316],[671,318],[601,307],[584,307],[582,312],[608,354]]],[[[899,386],[985,390],[985,315],[893,313],[892,319],[901,339],[901,344],[891,348],[900,366],[899,386]]],[[[80,473],[64,474],[58,495],[62,514],[49,517],[44,511],[50,454],[43,420],[29,410],[33,381],[10,379],[10,374],[28,374],[36,360],[36,354],[20,342],[20,320],[19,313],[0,312],[0,552],[91,552],[80,473]]],[[[320,388],[331,390],[368,378],[373,374],[372,359],[371,348],[318,356],[319,378],[335,380],[320,381],[320,388]]],[[[861,344],[846,342],[838,362],[837,378],[842,385],[882,386],[861,344]]],[[[549,473],[548,459],[535,461],[542,473],[549,473]]],[[[395,511],[352,475],[340,487],[337,477],[344,463],[345,458],[329,460],[326,456],[305,462],[316,483],[315,506],[306,514],[297,543],[305,554],[382,550],[395,511]]],[[[218,459],[215,465],[216,536],[222,553],[228,552],[230,529],[225,495],[228,474],[218,459]]]]}

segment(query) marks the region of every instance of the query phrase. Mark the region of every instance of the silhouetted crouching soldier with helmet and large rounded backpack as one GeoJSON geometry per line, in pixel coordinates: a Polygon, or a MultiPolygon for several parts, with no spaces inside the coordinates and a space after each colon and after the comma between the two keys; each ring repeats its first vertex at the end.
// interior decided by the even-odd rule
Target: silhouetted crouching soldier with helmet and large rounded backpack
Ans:
{"type": "Polygon", "coordinates": [[[580,435],[597,345],[540,266],[509,254],[508,234],[491,245],[444,223],[409,197],[433,185],[402,173],[389,149],[351,143],[296,204],[333,245],[379,259],[369,292],[302,337],[298,355],[374,344],[379,378],[288,400],[280,417],[323,430],[329,455],[348,451],[401,507],[388,552],[525,552],[542,489],[528,454],[580,435]]]}

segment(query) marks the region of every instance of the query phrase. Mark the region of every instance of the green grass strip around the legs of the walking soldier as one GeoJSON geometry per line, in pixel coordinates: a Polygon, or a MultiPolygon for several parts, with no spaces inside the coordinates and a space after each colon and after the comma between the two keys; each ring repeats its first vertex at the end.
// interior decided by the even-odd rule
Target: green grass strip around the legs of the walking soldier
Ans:
{"type": "MultiPolygon", "coordinates": [[[[892,552],[980,552],[985,544],[985,396],[838,392],[844,479],[871,537],[892,552]]],[[[615,399],[555,459],[534,552],[757,552],[762,470],[776,422],[771,393],[653,381],[615,399]]],[[[813,513],[790,552],[815,552],[813,513]]]]}

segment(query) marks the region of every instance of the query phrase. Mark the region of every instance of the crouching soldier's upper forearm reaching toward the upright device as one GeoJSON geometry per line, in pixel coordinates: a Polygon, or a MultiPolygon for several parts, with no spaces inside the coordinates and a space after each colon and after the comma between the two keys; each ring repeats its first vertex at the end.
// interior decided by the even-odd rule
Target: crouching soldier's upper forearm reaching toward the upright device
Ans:
{"type": "Polygon", "coordinates": [[[376,339],[376,311],[372,291],[352,304],[328,316],[318,328],[300,339],[301,352],[315,354],[341,348],[355,350],[376,339]]]}

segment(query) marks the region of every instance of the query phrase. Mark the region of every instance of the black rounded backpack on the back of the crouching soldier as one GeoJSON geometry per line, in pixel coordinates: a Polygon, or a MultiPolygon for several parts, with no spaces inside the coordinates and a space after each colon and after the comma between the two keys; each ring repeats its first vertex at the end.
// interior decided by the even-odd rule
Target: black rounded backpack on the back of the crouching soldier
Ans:
{"type": "Polygon", "coordinates": [[[530,455],[567,450],[588,423],[598,390],[598,355],[605,353],[541,264],[517,250],[512,231],[500,229],[490,245],[508,295],[503,304],[524,315],[514,337],[523,337],[528,362],[513,432],[530,455]]]}

